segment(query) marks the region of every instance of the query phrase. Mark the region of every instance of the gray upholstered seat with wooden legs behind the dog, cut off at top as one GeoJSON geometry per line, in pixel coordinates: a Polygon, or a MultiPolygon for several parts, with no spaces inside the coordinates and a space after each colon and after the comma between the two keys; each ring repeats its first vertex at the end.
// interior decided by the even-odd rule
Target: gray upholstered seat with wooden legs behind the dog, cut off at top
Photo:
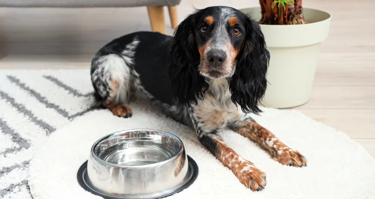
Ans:
{"type": "Polygon", "coordinates": [[[178,25],[181,0],[0,0],[0,7],[140,7],[147,6],[151,28],[166,33],[164,6],[168,6],[172,28],[178,25]]]}

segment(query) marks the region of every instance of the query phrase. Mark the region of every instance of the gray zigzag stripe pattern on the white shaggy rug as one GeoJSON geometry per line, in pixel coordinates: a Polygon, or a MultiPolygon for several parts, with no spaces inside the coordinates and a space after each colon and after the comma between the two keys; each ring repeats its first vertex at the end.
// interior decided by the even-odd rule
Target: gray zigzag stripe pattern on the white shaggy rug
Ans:
{"type": "MultiPolygon", "coordinates": [[[[92,92],[83,94],[83,93],[79,92],[78,90],[69,87],[68,85],[64,84],[62,81],[58,80],[56,77],[53,77],[51,75],[43,75],[43,77],[46,78],[46,79],[48,79],[48,80],[50,80],[55,85],[57,85],[57,86],[65,89],[65,90],[68,90],[74,96],[89,97],[89,96],[93,95],[92,92]]],[[[81,111],[81,112],[69,115],[66,110],[61,109],[60,106],[49,102],[46,99],[46,97],[43,97],[40,93],[38,93],[37,91],[31,89],[25,83],[22,83],[21,80],[18,79],[16,76],[7,75],[7,78],[12,83],[14,83],[15,85],[17,85],[17,87],[19,87],[21,90],[24,90],[24,91],[30,93],[31,96],[33,96],[40,103],[42,103],[43,105],[45,105],[47,108],[52,108],[52,109],[56,110],[60,115],[68,118],[69,120],[72,120],[75,117],[78,117],[80,115],[85,114],[86,112],[88,112],[90,110],[95,109],[94,107],[90,107],[88,109],[85,109],[84,111],[81,111]]],[[[46,135],[47,136],[50,133],[52,133],[53,131],[56,130],[55,127],[52,127],[51,125],[49,125],[45,121],[38,119],[33,114],[33,112],[31,110],[26,109],[25,106],[23,106],[20,103],[17,103],[17,100],[14,99],[14,98],[12,98],[12,97],[10,97],[5,91],[0,90],[0,98],[3,99],[3,100],[5,100],[6,102],[8,102],[10,105],[12,105],[12,107],[16,108],[17,112],[22,113],[25,116],[27,116],[28,118],[30,118],[30,122],[34,123],[35,125],[37,125],[39,127],[42,127],[42,129],[44,129],[46,131],[46,135]]],[[[6,158],[6,155],[9,154],[9,153],[14,153],[14,152],[17,153],[17,152],[19,152],[22,149],[27,149],[27,148],[30,147],[30,145],[31,145],[30,142],[28,140],[22,138],[19,133],[17,133],[14,129],[12,129],[11,127],[9,127],[7,125],[7,123],[6,123],[6,121],[2,120],[1,118],[0,118],[0,129],[1,129],[1,132],[10,135],[12,142],[13,143],[17,143],[17,145],[18,145],[17,147],[12,147],[12,148],[5,149],[5,151],[3,151],[3,152],[0,153],[1,156],[4,156],[6,158]]],[[[28,167],[29,163],[30,163],[30,160],[23,161],[22,163],[16,163],[16,164],[14,164],[12,166],[1,168],[0,169],[0,178],[3,177],[5,174],[13,171],[14,169],[28,167]]],[[[14,192],[15,189],[17,187],[20,187],[20,186],[26,186],[26,189],[28,190],[28,193],[30,194],[30,197],[33,198],[33,196],[30,193],[30,187],[27,184],[27,180],[23,180],[23,181],[21,181],[19,183],[12,183],[8,187],[0,189],[0,198],[3,198],[8,193],[14,192]]]]}

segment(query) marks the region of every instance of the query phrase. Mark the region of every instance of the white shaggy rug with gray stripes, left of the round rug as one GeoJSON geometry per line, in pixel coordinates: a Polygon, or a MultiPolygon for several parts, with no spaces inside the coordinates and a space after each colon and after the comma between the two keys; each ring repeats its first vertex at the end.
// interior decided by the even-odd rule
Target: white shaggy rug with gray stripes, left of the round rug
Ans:
{"type": "Polygon", "coordinates": [[[0,70],[0,199],[32,199],[36,148],[89,110],[89,70],[0,70]]]}

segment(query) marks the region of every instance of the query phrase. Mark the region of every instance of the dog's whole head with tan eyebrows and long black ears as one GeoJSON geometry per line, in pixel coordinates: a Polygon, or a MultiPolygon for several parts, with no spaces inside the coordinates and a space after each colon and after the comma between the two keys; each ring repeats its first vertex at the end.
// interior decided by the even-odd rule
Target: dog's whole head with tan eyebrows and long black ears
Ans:
{"type": "Polygon", "coordinates": [[[235,104],[244,112],[260,112],[269,57],[259,25],[245,13],[224,6],[197,10],[172,39],[169,69],[175,98],[196,104],[210,79],[225,78],[235,104]]]}

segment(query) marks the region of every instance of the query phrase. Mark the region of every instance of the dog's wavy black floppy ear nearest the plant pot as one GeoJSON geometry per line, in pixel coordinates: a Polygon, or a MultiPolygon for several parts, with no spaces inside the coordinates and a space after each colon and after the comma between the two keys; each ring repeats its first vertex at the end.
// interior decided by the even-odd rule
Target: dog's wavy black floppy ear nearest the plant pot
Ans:
{"type": "Polygon", "coordinates": [[[232,101],[245,113],[258,114],[257,104],[267,88],[267,69],[270,53],[260,26],[255,20],[245,16],[246,41],[238,57],[236,71],[229,80],[232,101]]]}

